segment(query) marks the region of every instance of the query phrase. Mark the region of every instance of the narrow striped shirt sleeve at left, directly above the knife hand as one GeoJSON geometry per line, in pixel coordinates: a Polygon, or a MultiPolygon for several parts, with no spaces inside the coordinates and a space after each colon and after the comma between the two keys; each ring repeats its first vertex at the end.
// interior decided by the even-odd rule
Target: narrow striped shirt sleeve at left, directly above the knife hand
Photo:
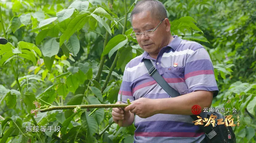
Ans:
{"type": "Polygon", "coordinates": [[[135,98],[133,97],[133,94],[132,94],[131,87],[130,87],[131,82],[129,82],[128,73],[129,72],[127,71],[126,66],[125,66],[123,80],[121,83],[121,87],[120,87],[120,90],[118,93],[118,100],[117,100],[117,101],[120,101],[120,96],[121,96],[121,92],[122,92],[122,102],[124,102],[124,103],[127,103],[128,98],[130,99],[130,102],[135,100],[135,98]]]}

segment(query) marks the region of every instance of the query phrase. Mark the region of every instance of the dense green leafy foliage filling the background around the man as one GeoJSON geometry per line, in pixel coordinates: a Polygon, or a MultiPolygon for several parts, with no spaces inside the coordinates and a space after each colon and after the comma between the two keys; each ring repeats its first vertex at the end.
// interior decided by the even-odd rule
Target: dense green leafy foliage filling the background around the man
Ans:
{"type": "MultiPolygon", "coordinates": [[[[136,1],[9,0],[1,2],[0,143],[133,142],[112,108],[30,113],[40,99],[55,106],[115,103],[125,65],[143,50],[128,35],[136,1]],[[61,132],[26,132],[26,126],[61,132]]],[[[236,108],[237,142],[255,142],[256,1],[163,0],[172,35],[209,52],[220,93],[212,107],[236,108]]],[[[45,103],[42,103],[42,106],[45,103]]],[[[229,115],[230,113],[224,113],[229,115]]]]}

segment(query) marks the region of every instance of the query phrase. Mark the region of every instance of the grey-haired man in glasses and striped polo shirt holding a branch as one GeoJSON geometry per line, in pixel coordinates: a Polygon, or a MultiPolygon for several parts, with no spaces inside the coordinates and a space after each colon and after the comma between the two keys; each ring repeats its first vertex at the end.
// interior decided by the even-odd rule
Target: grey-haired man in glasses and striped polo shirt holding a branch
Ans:
{"type": "Polygon", "coordinates": [[[133,32],[145,52],[132,59],[125,67],[118,94],[122,102],[131,104],[113,108],[115,123],[135,123],[136,143],[200,143],[206,135],[195,126],[191,107],[210,107],[218,94],[214,68],[206,49],[199,43],[183,40],[170,33],[164,5],[157,0],[139,1],[131,13],[133,32]],[[147,31],[149,30],[149,31],[147,31]],[[157,71],[178,91],[179,97],[170,97],[152,78],[143,59],[150,59],[157,71]],[[135,116],[136,115],[136,116],[135,116]]]}

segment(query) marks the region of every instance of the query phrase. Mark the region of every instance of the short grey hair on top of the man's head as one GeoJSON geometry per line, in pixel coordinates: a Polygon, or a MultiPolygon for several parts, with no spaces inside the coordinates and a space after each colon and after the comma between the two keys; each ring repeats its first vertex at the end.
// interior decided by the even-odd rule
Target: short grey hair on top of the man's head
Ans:
{"type": "Polygon", "coordinates": [[[134,9],[131,12],[130,19],[132,21],[132,16],[144,11],[150,11],[152,17],[155,17],[159,21],[162,21],[167,17],[166,8],[158,0],[141,0],[136,3],[134,9]]]}

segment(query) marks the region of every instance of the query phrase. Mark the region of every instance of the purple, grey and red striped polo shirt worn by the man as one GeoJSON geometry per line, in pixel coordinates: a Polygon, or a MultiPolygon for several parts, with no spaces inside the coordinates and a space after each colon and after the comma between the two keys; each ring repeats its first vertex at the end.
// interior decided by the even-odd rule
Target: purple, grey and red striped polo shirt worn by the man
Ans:
{"type": "MultiPolygon", "coordinates": [[[[148,75],[143,59],[150,59],[167,83],[181,95],[196,90],[219,90],[214,68],[206,49],[199,43],[183,40],[177,35],[168,46],[163,47],[157,59],[147,52],[135,57],[125,67],[118,94],[127,103],[141,97],[150,99],[172,98],[148,75]]],[[[203,99],[202,99],[203,100],[203,99]]],[[[200,143],[205,134],[199,131],[189,115],[155,114],[148,118],[135,115],[134,143],[200,143]]]]}

